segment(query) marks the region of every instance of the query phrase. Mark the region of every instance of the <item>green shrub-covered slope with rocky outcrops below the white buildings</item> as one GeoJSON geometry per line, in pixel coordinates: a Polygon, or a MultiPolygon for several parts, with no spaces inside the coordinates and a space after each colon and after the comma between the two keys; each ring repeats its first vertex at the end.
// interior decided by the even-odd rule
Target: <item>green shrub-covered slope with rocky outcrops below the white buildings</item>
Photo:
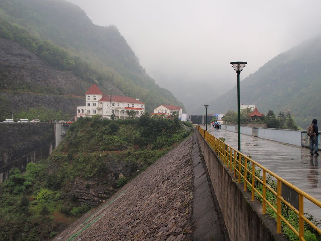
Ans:
{"type": "Polygon", "coordinates": [[[0,184],[0,240],[49,240],[188,134],[177,119],[81,118],[47,160],[0,184]]]}

